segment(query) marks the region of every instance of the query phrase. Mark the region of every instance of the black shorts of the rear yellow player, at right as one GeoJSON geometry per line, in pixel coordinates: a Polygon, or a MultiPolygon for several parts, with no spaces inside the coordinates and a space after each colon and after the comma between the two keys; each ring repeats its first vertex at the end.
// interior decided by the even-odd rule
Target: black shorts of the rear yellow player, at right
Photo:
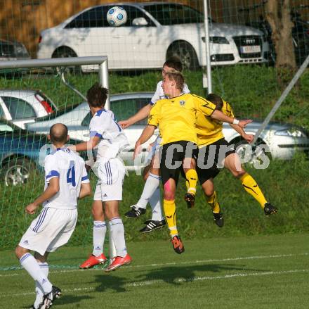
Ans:
{"type": "Polygon", "coordinates": [[[199,183],[204,184],[206,180],[216,177],[222,170],[222,161],[231,153],[235,153],[235,145],[230,145],[225,139],[219,139],[213,144],[199,149],[197,156],[197,176],[199,183]]]}

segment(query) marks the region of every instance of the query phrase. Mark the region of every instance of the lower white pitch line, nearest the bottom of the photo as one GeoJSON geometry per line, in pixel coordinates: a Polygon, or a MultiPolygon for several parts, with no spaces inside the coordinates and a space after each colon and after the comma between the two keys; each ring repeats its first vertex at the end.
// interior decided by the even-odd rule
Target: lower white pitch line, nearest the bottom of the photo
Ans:
{"type": "MultiPolygon", "coordinates": [[[[197,282],[197,281],[205,281],[205,280],[214,280],[214,279],[230,279],[230,278],[239,278],[239,277],[257,277],[257,276],[270,276],[270,275],[285,275],[285,274],[294,274],[299,272],[309,272],[308,270],[282,270],[279,272],[249,272],[249,273],[237,273],[231,275],[223,275],[223,276],[206,276],[206,277],[189,277],[189,278],[178,278],[173,280],[151,280],[151,281],[141,281],[141,282],[129,282],[127,284],[123,284],[122,287],[131,287],[131,286],[149,286],[152,284],[164,284],[164,283],[181,283],[181,282],[197,282]]],[[[96,287],[84,287],[84,288],[75,288],[75,289],[63,289],[63,292],[74,293],[76,291],[96,291],[96,287]]],[[[0,294],[0,298],[4,297],[16,297],[16,296],[27,296],[34,295],[32,292],[25,292],[19,294],[0,294]]]]}

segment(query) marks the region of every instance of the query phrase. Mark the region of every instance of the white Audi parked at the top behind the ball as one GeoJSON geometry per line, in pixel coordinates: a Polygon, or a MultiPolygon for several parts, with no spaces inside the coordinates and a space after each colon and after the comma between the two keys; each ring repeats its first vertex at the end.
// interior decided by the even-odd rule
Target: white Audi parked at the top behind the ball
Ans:
{"type": "MultiPolygon", "coordinates": [[[[263,63],[269,46],[253,27],[209,23],[211,65],[263,63]]],[[[111,70],[162,68],[166,58],[180,57],[184,68],[206,65],[204,15],[183,4],[147,2],[87,8],[41,32],[37,58],[107,56],[111,70]],[[128,20],[111,27],[106,14],[119,5],[128,20]]],[[[96,70],[84,65],[82,70],[96,70]]]]}

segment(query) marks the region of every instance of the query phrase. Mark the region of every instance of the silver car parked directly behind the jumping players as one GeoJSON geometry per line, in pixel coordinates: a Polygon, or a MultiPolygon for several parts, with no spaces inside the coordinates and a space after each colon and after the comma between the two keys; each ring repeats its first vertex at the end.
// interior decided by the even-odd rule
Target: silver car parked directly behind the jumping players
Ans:
{"type": "MultiPolygon", "coordinates": [[[[152,98],[151,92],[138,92],[131,94],[115,94],[110,97],[111,110],[118,120],[124,120],[134,115],[143,106],[150,102],[152,98]]],[[[69,134],[72,139],[79,141],[87,141],[89,139],[88,125],[91,120],[88,104],[86,102],[66,108],[65,111],[58,111],[55,114],[46,116],[37,122],[27,125],[27,129],[37,133],[48,133],[49,128],[56,122],[65,123],[68,126],[69,134]]],[[[126,128],[124,132],[129,139],[130,146],[121,153],[121,157],[129,169],[134,168],[133,149],[136,140],[140,137],[146,120],[131,125],[126,128]]],[[[246,126],[248,134],[255,134],[261,126],[261,121],[254,121],[246,126]]],[[[159,132],[157,131],[156,134],[159,132]]],[[[244,144],[239,134],[230,127],[227,123],[223,124],[223,134],[231,144],[244,144]]],[[[153,141],[155,137],[152,138],[153,141]]],[[[148,144],[148,143],[147,143],[148,144]]],[[[147,155],[147,144],[144,144],[143,157],[141,163],[147,155]]],[[[296,127],[289,124],[280,124],[270,122],[270,124],[263,130],[256,144],[265,144],[270,150],[272,158],[279,158],[282,160],[289,160],[294,156],[296,151],[309,151],[309,135],[301,127],[296,127]]],[[[252,160],[255,160],[254,156],[252,160]]]]}

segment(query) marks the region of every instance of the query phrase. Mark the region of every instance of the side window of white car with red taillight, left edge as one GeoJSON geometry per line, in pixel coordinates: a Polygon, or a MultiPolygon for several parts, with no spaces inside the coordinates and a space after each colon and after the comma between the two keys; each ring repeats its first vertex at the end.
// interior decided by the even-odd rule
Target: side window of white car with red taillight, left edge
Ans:
{"type": "Polygon", "coordinates": [[[6,107],[13,120],[37,117],[34,108],[22,99],[13,98],[12,96],[2,96],[2,100],[6,103],[6,107]]]}

